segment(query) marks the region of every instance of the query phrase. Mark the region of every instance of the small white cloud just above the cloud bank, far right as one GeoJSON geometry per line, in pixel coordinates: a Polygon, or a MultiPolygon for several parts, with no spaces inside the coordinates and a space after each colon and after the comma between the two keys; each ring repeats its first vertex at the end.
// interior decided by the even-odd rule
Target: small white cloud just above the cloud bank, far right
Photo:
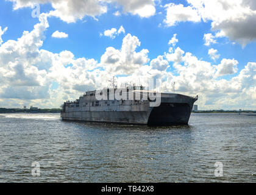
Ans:
{"type": "Polygon", "coordinates": [[[235,74],[238,70],[237,68],[238,62],[237,60],[233,59],[222,59],[221,63],[216,67],[217,72],[216,76],[225,76],[227,74],[235,74]]]}

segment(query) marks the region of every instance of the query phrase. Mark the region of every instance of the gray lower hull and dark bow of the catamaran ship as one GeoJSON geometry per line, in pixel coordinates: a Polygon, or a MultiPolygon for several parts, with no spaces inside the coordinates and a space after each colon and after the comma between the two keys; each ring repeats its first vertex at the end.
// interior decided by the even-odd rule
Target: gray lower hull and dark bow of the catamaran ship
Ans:
{"type": "Polygon", "coordinates": [[[73,108],[61,113],[63,120],[112,122],[121,124],[141,124],[149,126],[188,125],[193,104],[196,101],[188,96],[162,95],[161,104],[158,107],[149,107],[149,104],[126,111],[120,106],[109,111],[83,111],[73,108]]]}

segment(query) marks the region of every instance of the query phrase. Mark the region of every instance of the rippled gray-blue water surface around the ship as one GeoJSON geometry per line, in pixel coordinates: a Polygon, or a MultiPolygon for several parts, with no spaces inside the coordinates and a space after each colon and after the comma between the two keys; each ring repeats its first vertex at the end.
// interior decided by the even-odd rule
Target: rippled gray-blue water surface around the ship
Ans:
{"type": "Polygon", "coordinates": [[[0,182],[256,182],[255,164],[256,116],[147,127],[0,114],[0,182]]]}

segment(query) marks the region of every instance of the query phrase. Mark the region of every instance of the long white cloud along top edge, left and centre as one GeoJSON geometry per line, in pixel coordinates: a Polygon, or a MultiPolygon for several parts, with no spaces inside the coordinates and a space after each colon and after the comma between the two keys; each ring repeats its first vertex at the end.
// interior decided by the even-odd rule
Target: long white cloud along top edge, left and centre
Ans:
{"type": "Polygon", "coordinates": [[[155,14],[154,0],[8,0],[14,3],[13,8],[20,9],[23,7],[33,8],[35,4],[52,5],[50,15],[56,16],[66,23],[74,23],[77,19],[83,19],[85,16],[95,18],[107,13],[107,5],[114,4],[123,8],[126,13],[139,15],[148,18],[155,14]]]}

